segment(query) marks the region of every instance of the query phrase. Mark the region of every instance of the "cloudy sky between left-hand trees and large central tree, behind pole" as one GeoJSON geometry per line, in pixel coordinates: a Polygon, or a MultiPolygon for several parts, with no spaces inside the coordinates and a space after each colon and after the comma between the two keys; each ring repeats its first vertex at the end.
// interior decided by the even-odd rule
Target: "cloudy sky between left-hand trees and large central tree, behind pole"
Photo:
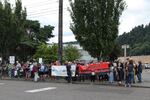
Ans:
{"type": "MultiPolygon", "coordinates": [[[[58,7],[59,7],[58,0],[51,0],[51,1],[48,1],[48,0],[32,0],[32,1],[31,0],[22,0],[22,2],[23,2],[23,5],[26,6],[27,11],[29,12],[28,15],[31,15],[28,17],[29,19],[32,19],[32,20],[37,19],[40,21],[40,23],[42,23],[42,25],[50,24],[55,27],[55,29],[53,31],[53,34],[55,35],[55,37],[50,39],[50,42],[58,43],[58,7]],[[41,2],[41,4],[39,4],[39,2],[41,2]],[[44,2],[47,2],[47,4],[45,6],[42,6],[42,4],[44,2]],[[35,3],[35,5],[34,5],[34,3],[35,3]],[[50,4],[50,3],[52,3],[52,4],[50,4]],[[31,6],[31,5],[33,5],[33,6],[31,6]],[[39,5],[40,7],[37,7],[37,5],[39,5]],[[36,7],[36,9],[35,9],[35,7],[36,7]],[[35,13],[40,13],[40,12],[42,13],[43,12],[42,9],[45,9],[45,8],[49,9],[49,10],[46,10],[46,11],[49,11],[49,14],[46,13],[45,16],[37,17],[38,15],[35,13]],[[30,13],[30,12],[32,12],[32,13],[30,13]],[[35,15],[37,15],[37,16],[34,17],[35,15]]],[[[64,14],[63,14],[63,42],[75,41],[74,35],[69,28],[71,18],[70,18],[70,14],[67,10],[67,7],[69,7],[68,0],[64,0],[63,6],[64,6],[64,9],[63,9],[63,12],[64,12],[64,14]]]]}

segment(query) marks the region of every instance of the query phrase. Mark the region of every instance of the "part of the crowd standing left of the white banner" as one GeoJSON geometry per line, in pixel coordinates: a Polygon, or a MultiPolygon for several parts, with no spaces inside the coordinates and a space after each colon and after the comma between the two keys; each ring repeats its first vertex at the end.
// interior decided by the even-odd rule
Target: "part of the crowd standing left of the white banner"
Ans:
{"type": "Polygon", "coordinates": [[[29,61],[16,61],[14,64],[0,63],[1,78],[25,78],[25,80],[34,79],[35,81],[40,78],[40,80],[44,81],[46,77],[51,75],[51,66],[57,64],[57,62],[44,64],[29,61]]]}

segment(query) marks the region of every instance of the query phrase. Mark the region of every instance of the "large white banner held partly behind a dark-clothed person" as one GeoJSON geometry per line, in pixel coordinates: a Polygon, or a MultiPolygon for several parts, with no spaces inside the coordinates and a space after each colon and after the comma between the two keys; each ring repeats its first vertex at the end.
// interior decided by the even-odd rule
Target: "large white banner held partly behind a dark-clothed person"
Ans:
{"type": "MultiPolygon", "coordinates": [[[[75,76],[76,65],[71,65],[72,76],[75,76]]],[[[52,76],[67,76],[66,66],[52,66],[52,76]]]]}

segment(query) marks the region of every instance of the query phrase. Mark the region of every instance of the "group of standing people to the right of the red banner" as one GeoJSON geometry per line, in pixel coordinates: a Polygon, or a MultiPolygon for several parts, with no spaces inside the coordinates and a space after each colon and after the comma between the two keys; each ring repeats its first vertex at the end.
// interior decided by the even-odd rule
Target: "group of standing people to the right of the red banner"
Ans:
{"type": "Polygon", "coordinates": [[[136,82],[142,82],[142,62],[127,59],[126,62],[110,63],[109,82],[117,81],[118,84],[125,82],[125,87],[131,87],[136,82]]]}

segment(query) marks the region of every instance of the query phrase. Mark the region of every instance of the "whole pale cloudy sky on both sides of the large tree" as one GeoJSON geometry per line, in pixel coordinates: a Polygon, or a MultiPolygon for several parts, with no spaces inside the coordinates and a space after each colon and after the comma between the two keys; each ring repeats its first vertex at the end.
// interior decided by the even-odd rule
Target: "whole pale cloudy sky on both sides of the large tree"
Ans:
{"type": "MultiPolygon", "coordinates": [[[[15,0],[10,0],[14,2],[15,0]]],[[[22,0],[23,7],[27,9],[27,18],[38,20],[41,25],[55,27],[49,43],[58,43],[58,1],[59,0],[22,0]]],[[[67,10],[68,0],[63,0],[63,42],[76,41],[70,30],[71,18],[67,10]]],[[[120,18],[119,35],[129,32],[135,26],[150,23],[150,0],[125,0],[127,8],[120,18]]]]}

